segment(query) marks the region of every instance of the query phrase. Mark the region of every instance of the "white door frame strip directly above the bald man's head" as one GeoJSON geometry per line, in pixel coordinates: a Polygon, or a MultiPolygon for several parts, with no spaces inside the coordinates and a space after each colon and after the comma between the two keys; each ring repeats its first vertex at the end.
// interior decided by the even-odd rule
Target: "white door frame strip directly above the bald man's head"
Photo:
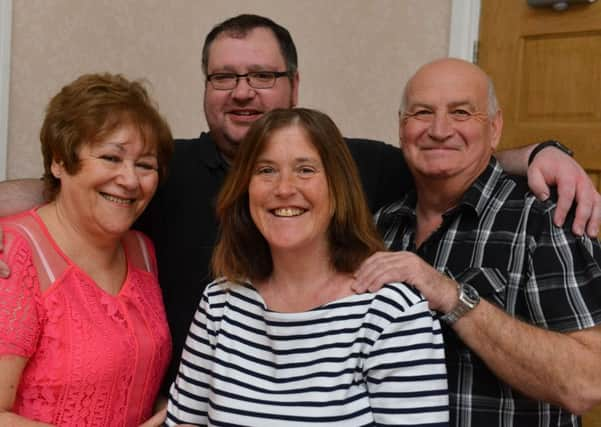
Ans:
{"type": "Polygon", "coordinates": [[[452,0],[449,56],[476,62],[480,0],[452,0]]]}

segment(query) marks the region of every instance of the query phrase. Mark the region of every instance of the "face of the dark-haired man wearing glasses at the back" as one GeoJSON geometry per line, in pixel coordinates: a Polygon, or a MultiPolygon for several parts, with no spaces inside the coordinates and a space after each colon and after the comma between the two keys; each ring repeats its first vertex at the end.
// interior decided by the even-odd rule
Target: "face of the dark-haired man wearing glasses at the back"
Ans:
{"type": "MultiPolygon", "coordinates": [[[[246,74],[250,71],[286,71],[286,62],[273,32],[259,27],[244,37],[219,35],[209,48],[207,73],[246,74]]],[[[205,85],[204,110],[217,147],[232,160],[250,125],[264,112],[290,108],[298,98],[298,75],[276,79],[270,89],[253,89],[241,78],[231,90],[205,85]]]]}

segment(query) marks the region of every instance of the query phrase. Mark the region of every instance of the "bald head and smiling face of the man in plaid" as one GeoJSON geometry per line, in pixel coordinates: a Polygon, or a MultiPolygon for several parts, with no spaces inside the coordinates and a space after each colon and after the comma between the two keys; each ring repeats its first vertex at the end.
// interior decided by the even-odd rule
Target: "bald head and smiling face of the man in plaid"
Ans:
{"type": "Polygon", "coordinates": [[[471,183],[497,146],[501,114],[488,115],[488,79],[476,66],[446,59],[409,81],[400,141],[415,179],[471,183]]]}

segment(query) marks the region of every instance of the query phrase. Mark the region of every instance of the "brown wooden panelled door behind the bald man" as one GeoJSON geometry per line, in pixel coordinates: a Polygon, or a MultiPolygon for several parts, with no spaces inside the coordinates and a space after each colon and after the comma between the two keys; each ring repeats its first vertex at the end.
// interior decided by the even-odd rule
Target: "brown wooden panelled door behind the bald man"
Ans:
{"type": "MultiPolygon", "coordinates": [[[[601,0],[564,12],[482,0],[478,63],[503,109],[501,147],[559,139],[601,190],[601,0]]],[[[601,406],[584,426],[601,427],[601,406]]]]}

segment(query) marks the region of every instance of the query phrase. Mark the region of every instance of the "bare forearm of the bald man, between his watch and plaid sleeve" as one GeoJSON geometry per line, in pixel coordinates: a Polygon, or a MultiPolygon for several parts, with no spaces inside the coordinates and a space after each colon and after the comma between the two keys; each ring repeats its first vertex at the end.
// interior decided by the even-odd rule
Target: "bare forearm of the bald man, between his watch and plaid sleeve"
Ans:
{"type": "Polygon", "coordinates": [[[596,339],[586,342],[516,320],[482,300],[454,329],[501,380],[534,399],[574,413],[601,399],[597,328],[588,330],[596,339]]]}

